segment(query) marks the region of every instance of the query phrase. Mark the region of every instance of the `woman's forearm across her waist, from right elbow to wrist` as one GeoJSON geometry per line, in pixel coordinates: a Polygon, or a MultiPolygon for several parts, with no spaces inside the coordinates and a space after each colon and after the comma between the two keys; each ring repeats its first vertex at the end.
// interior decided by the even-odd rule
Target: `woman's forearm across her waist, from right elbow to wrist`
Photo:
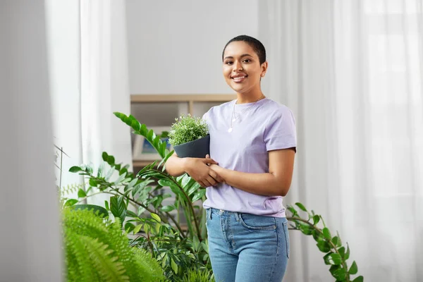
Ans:
{"type": "Polygon", "coordinates": [[[219,173],[228,185],[253,194],[285,196],[290,188],[291,179],[288,176],[276,176],[273,173],[231,171],[216,165],[212,165],[211,168],[219,173]]]}

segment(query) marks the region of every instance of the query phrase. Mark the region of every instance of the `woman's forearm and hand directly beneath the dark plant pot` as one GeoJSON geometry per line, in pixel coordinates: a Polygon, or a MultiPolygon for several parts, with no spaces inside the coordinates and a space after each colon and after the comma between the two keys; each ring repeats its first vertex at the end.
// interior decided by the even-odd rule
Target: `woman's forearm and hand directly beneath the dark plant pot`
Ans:
{"type": "Polygon", "coordinates": [[[219,173],[212,170],[209,164],[217,165],[216,161],[210,158],[180,158],[176,153],[173,153],[166,161],[166,171],[171,176],[181,176],[183,173],[188,173],[205,188],[223,182],[219,173]]]}

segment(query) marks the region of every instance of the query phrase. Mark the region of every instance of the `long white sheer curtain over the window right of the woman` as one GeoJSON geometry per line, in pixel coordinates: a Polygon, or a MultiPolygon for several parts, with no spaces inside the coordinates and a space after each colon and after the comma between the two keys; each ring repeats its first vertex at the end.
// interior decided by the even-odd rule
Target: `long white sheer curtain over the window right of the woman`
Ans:
{"type": "MultiPolygon", "coordinates": [[[[338,230],[364,281],[423,277],[423,1],[259,1],[266,94],[293,109],[286,202],[338,230]]],[[[284,281],[333,281],[291,231],[284,281]]]]}

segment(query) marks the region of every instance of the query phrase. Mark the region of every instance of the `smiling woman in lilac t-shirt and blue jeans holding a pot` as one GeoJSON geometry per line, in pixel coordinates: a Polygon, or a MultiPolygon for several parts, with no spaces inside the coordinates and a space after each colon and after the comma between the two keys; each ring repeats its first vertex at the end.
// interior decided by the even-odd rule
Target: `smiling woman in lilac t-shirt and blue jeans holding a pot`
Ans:
{"type": "Polygon", "coordinates": [[[173,176],[188,173],[207,187],[209,255],[217,282],[281,282],[289,257],[282,197],[293,175],[295,118],[264,96],[266,51],[241,35],[223,49],[223,77],[237,99],[214,106],[203,118],[210,156],[168,159],[173,176]]]}

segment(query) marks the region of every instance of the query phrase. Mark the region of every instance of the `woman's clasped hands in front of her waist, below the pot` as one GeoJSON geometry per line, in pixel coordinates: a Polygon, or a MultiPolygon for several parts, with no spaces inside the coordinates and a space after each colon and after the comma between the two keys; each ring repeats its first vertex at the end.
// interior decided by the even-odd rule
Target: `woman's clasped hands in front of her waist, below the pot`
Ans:
{"type": "Polygon", "coordinates": [[[202,187],[207,188],[223,182],[223,178],[209,167],[209,164],[217,165],[209,155],[205,159],[188,158],[186,161],[185,171],[202,187]]]}

